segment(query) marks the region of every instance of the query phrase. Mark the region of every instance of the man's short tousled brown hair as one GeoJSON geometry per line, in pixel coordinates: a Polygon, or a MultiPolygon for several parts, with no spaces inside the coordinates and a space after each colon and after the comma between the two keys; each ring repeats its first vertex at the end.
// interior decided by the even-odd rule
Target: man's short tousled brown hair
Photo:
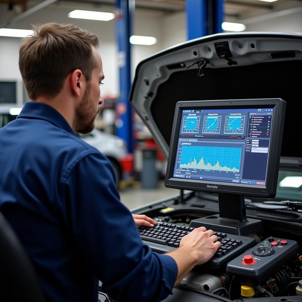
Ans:
{"type": "Polygon", "coordinates": [[[47,23],[33,26],[35,33],[23,39],[19,68],[28,97],[54,98],[70,72],[80,69],[89,81],[96,62],[91,45],[98,38],[72,24],[47,23]]]}

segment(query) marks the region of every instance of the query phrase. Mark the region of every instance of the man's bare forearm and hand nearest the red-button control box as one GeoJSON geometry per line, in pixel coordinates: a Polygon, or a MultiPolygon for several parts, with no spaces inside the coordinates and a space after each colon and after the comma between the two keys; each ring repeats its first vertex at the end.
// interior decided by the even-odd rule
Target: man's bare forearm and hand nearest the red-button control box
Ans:
{"type": "Polygon", "coordinates": [[[217,241],[217,236],[212,230],[206,230],[204,226],[193,230],[184,236],[180,241],[180,246],[167,255],[171,256],[178,267],[177,285],[191,269],[198,264],[203,264],[210,260],[219,249],[221,243],[217,241]]]}

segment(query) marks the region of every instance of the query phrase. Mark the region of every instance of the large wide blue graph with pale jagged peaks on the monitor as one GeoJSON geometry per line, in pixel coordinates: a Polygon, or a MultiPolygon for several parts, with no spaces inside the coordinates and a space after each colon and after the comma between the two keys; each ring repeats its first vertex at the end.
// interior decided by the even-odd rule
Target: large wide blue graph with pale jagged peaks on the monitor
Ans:
{"type": "Polygon", "coordinates": [[[182,146],[180,168],[240,171],[241,148],[182,146]]]}

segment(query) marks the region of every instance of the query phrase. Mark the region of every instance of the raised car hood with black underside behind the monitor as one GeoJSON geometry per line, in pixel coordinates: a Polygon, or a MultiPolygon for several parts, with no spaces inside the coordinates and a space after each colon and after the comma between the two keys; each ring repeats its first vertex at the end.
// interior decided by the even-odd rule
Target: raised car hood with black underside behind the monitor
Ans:
{"type": "Polygon", "coordinates": [[[291,162],[301,157],[293,143],[301,140],[301,71],[302,34],[215,34],[140,62],[130,102],[168,158],[178,101],[282,98],[287,107],[281,156],[291,162]]]}

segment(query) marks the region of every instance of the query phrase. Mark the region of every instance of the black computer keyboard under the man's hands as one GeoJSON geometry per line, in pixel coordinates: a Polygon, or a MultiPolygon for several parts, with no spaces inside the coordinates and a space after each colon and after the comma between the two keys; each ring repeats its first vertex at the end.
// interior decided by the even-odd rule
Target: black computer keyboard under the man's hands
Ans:
{"type": "MultiPolygon", "coordinates": [[[[154,227],[139,226],[138,230],[142,240],[147,243],[154,252],[166,253],[179,247],[183,236],[192,232],[195,228],[181,226],[172,223],[158,222],[154,227]]],[[[255,239],[246,236],[238,236],[227,233],[214,232],[218,241],[221,242],[220,249],[205,267],[219,268],[235,258],[240,253],[255,245],[255,239]]]]}

